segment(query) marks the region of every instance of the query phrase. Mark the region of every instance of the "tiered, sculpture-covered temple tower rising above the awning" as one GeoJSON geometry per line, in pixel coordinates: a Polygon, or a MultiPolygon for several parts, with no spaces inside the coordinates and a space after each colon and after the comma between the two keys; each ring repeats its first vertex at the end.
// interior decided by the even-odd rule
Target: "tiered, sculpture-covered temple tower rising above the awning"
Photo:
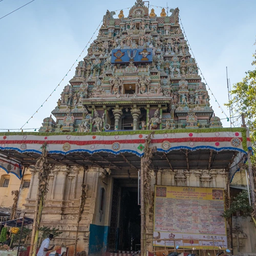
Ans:
{"type": "Polygon", "coordinates": [[[179,9],[137,0],[128,17],[107,11],[97,39],[78,63],[39,132],[222,127],[179,25],[179,9]]]}

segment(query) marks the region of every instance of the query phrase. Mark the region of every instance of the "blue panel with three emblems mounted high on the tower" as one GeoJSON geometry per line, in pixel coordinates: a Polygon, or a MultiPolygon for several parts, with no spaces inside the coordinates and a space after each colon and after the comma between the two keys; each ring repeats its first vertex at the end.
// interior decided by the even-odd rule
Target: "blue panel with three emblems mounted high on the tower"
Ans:
{"type": "Polygon", "coordinates": [[[111,63],[124,62],[152,62],[152,49],[114,49],[112,50],[111,63]]]}

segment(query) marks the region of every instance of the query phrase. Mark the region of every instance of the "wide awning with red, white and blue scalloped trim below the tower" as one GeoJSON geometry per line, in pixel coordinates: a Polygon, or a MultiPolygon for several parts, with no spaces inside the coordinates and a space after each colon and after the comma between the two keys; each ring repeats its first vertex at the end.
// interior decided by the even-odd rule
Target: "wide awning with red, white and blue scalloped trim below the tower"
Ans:
{"type": "MultiPolygon", "coordinates": [[[[246,160],[251,142],[246,128],[154,131],[153,168],[224,169],[231,177],[246,160]]],[[[114,169],[140,168],[145,138],[151,131],[101,133],[1,133],[0,153],[33,165],[47,143],[49,162],[114,169]]]]}

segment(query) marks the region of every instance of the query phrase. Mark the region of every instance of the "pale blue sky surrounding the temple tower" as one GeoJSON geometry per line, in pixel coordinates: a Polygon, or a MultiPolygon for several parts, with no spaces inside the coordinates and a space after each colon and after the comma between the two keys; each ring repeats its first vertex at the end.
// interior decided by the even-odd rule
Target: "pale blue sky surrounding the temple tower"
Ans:
{"type": "MultiPolygon", "coordinates": [[[[3,0],[0,17],[28,2],[3,0]]],[[[35,0],[0,19],[0,129],[18,129],[31,117],[86,46],[107,9],[132,7],[134,3],[135,0],[35,0]]],[[[166,6],[166,1],[150,4],[166,6]]],[[[226,66],[231,83],[241,81],[245,71],[251,69],[256,1],[175,0],[169,1],[168,6],[179,7],[191,49],[212,92],[223,105],[227,102],[226,66]]],[[[159,15],[160,8],[154,9],[159,15]]],[[[127,15],[127,9],[124,14],[127,15]]],[[[74,70],[25,129],[40,127],[42,120],[50,116],[74,70]]],[[[216,115],[225,118],[210,97],[216,115]]],[[[226,109],[225,112],[228,115],[226,109]]],[[[223,125],[229,123],[223,120],[223,125]]]]}

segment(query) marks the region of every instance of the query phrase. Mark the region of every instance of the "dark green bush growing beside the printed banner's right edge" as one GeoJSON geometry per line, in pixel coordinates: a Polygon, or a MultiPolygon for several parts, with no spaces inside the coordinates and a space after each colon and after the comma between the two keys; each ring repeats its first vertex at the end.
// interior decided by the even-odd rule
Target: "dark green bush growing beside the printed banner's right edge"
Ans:
{"type": "Polygon", "coordinates": [[[236,212],[240,212],[240,216],[250,217],[252,211],[253,207],[249,204],[248,192],[244,190],[233,198],[230,208],[226,209],[222,216],[224,218],[230,218],[236,212]]]}

